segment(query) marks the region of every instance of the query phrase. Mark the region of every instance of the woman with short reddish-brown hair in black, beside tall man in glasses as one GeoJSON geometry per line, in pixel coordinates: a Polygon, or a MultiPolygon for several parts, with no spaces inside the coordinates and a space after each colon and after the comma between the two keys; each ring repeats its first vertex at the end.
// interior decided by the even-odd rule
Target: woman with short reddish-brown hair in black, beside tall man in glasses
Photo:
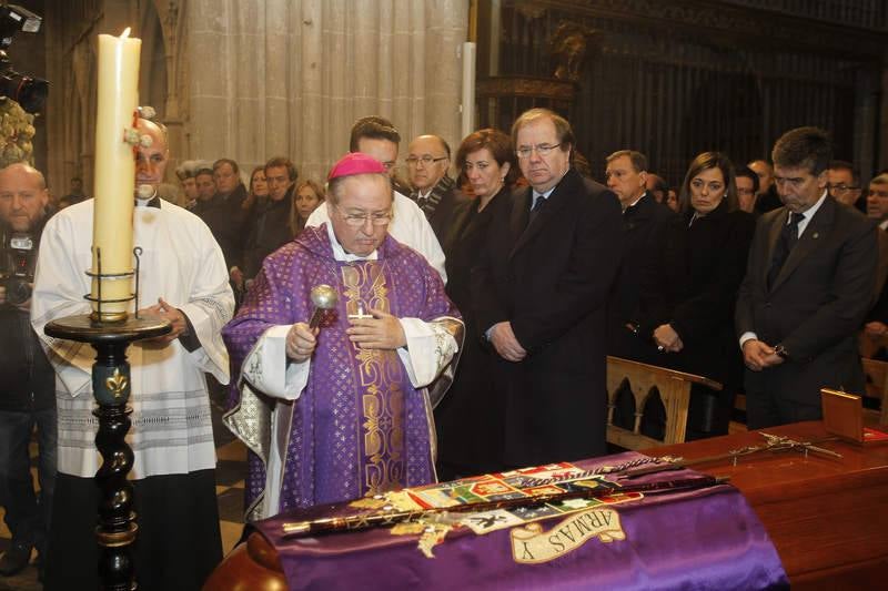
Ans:
{"type": "Polygon", "coordinates": [[[517,165],[508,135],[485,129],[465,137],[456,165],[471,185],[474,198],[463,196],[444,227],[447,295],[463,313],[466,337],[456,379],[435,409],[438,434],[438,477],[483,473],[502,467],[502,407],[493,397],[491,353],[482,346],[472,316],[471,274],[487,228],[509,198],[517,165]]]}

